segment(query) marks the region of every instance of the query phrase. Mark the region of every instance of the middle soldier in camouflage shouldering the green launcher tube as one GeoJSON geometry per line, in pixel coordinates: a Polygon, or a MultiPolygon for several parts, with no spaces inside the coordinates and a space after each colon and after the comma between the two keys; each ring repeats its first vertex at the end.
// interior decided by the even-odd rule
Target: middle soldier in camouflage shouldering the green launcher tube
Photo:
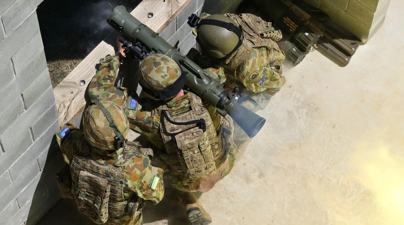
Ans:
{"type": "Polygon", "coordinates": [[[181,200],[193,225],[209,224],[212,218],[190,192],[209,191],[233,167],[233,121],[218,116],[220,123],[214,124],[200,98],[182,90],[185,74],[164,55],[150,55],[141,62],[140,97],[114,86],[124,54],[120,48],[116,56],[100,60],[88,94],[91,99],[109,100],[124,109],[130,128],[158,148],[154,163],[164,169],[165,181],[182,191],[172,194],[172,198],[181,200]],[[205,121],[203,126],[190,119],[199,114],[205,121]],[[178,126],[172,121],[191,123],[178,126]],[[186,132],[188,129],[192,132],[186,132]]]}

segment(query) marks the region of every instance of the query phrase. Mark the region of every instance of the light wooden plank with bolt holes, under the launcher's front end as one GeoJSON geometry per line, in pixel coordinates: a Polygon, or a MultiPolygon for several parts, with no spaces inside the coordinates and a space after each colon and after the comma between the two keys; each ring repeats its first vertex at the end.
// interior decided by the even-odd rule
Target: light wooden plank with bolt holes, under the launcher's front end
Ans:
{"type": "MultiPolygon", "coordinates": [[[[156,32],[161,32],[192,0],[143,0],[131,14],[156,32]],[[153,13],[148,18],[147,14],[153,13]]],[[[112,32],[105,40],[116,35],[112,32]]],[[[111,42],[111,41],[110,41],[111,42]]],[[[115,46],[102,41],[86,58],[54,88],[59,124],[73,122],[84,110],[84,94],[88,83],[95,74],[95,65],[106,55],[115,54],[115,46]],[[85,82],[81,85],[82,81],[85,82]]]]}

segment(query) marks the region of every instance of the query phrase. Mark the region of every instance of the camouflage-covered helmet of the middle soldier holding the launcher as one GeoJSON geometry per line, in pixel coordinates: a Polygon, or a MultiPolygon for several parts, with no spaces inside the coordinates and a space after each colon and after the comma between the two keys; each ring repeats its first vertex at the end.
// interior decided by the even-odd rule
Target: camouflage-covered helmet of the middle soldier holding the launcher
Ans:
{"type": "MultiPolygon", "coordinates": [[[[150,92],[162,91],[181,77],[181,69],[178,64],[170,57],[162,54],[151,54],[147,56],[140,63],[139,73],[140,85],[143,89],[148,89],[150,92]]],[[[150,92],[145,92],[149,98],[162,100],[151,95],[150,92]]],[[[176,94],[178,94],[178,92],[176,94]]],[[[169,96],[167,99],[175,95],[169,96]]]]}

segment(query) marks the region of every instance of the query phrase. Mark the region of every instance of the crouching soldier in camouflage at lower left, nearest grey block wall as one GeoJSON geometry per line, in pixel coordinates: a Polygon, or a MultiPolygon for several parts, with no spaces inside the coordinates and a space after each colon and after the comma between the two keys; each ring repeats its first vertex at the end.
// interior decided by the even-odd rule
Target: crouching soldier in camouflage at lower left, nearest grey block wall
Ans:
{"type": "Polygon", "coordinates": [[[56,133],[71,172],[70,184],[66,173],[64,181],[58,177],[62,196],[97,224],[143,224],[144,204],[164,196],[163,170],[141,153],[149,150],[126,145],[129,124],[119,106],[94,103],[84,112],[83,130],[67,123],[56,133]]]}

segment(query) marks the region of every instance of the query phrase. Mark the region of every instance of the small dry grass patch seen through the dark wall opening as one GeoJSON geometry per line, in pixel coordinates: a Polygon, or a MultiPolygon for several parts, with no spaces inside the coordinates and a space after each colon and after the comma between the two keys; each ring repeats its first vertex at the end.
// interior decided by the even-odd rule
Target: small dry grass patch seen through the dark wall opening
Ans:
{"type": "Polygon", "coordinates": [[[49,61],[47,67],[51,75],[52,87],[55,88],[81,61],[82,59],[49,61]]]}

